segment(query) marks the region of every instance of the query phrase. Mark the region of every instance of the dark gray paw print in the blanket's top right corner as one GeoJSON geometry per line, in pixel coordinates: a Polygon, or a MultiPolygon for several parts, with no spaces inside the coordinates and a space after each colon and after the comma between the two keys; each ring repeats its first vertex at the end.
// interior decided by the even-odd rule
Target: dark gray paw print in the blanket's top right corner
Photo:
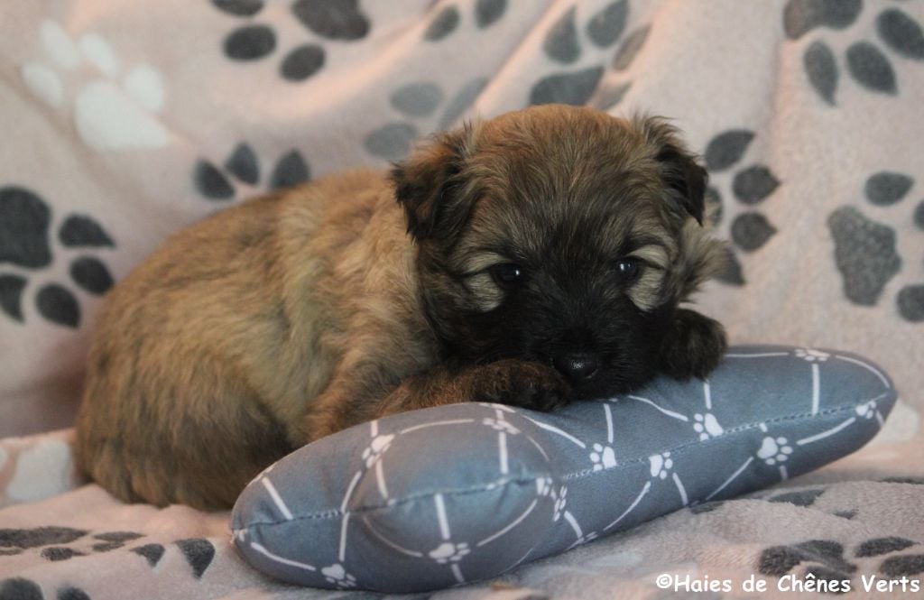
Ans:
{"type": "MultiPolygon", "coordinates": [[[[869,3],[868,6],[879,8],[882,5],[869,3]]],[[[819,28],[845,30],[857,22],[862,10],[861,0],[789,0],[784,7],[784,30],[791,40],[798,40],[819,28]]],[[[918,22],[900,8],[885,7],[875,19],[875,28],[881,43],[894,55],[924,60],[924,32],[918,22]]],[[[863,89],[887,95],[898,93],[893,61],[877,43],[860,40],[851,44],[844,60],[847,72],[863,89]]],[[[840,69],[831,46],[821,37],[808,44],[802,63],[815,92],[825,103],[836,104],[840,69]]]]}

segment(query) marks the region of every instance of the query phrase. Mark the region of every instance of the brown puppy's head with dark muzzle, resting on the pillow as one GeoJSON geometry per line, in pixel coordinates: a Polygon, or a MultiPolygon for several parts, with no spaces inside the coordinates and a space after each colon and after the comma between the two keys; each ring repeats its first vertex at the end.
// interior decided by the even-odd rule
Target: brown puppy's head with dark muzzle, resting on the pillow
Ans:
{"type": "Polygon", "coordinates": [[[532,107],[442,134],[392,177],[446,348],[552,364],[580,398],[648,380],[677,304],[721,266],[706,172],[656,118],[532,107]]]}

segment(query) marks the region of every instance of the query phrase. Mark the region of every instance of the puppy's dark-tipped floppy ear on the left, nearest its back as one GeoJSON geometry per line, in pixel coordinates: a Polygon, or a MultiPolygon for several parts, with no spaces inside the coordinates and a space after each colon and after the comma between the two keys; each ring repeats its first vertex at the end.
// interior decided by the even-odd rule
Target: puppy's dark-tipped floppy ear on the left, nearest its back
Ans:
{"type": "Polygon", "coordinates": [[[470,203],[461,196],[461,173],[474,152],[477,125],[437,134],[392,169],[395,198],[405,209],[414,239],[448,238],[465,224],[470,203]]]}

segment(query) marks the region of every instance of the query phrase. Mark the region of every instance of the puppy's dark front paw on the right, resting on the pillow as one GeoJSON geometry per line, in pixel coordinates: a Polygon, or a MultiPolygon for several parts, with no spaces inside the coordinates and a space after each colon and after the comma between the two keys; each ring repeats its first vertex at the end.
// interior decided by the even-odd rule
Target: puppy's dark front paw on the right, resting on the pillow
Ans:
{"type": "Polygon", "coordinates": [[[677,309],[662,342],[661,368],[675,379],[705,379],[726,348],[722,324],[699,312],[677,309]]]}

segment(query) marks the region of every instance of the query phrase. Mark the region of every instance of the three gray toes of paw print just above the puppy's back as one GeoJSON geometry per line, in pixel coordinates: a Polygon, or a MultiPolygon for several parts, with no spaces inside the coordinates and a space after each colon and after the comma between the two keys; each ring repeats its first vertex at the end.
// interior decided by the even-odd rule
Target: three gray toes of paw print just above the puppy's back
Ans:
{"type": "MultiPolygon", "coordinates": [[[[228,154],[221,167],[201,158],[193,167],[193,183],[196,190],[213,201],[225,201],[237,198],[238,184],[255,188],[261,183],[260,160],[246,141],[241,141],[228,154]]],[[[304,156],[298,150],[284,153],[276,161],[269,179],[270,190],[291,188],[309,181],[311,169],[304,156]]]]}

